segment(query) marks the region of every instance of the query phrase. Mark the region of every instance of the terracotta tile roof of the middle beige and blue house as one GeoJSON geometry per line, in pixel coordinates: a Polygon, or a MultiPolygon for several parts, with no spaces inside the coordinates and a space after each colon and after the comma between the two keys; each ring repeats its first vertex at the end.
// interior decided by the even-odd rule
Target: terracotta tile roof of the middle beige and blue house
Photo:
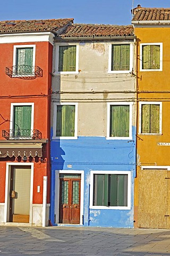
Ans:
{"type": "Polygon", "coordinates": [[[93,36],[132,36],[133,27],[118,25],[72,24],[58,36],[64,37],[93,37],[93,36]]]}

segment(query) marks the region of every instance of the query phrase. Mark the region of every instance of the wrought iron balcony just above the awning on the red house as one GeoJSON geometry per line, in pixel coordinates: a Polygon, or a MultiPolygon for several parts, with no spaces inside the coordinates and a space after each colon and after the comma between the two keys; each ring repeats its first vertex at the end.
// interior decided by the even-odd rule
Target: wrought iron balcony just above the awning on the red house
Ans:
{"type": "Polygon", "coordinates": [[[38,130],[10,129],[2,130],[6,140],[41,140],[42,133],[38,130]]]}

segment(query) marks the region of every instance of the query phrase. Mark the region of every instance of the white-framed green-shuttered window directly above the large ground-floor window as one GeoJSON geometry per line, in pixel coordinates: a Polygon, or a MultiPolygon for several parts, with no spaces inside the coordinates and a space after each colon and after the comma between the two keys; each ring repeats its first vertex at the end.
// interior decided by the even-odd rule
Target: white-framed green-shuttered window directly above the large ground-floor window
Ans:
{"type": "Polygon", "coordinates": [[[132,103],[108,103],[107,138],[132,138],[132,103]]]}

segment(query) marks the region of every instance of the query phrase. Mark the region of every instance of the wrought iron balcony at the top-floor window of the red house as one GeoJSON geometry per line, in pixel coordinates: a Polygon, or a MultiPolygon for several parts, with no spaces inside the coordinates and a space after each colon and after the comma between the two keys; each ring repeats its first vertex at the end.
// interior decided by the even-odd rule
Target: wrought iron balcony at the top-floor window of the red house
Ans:
{"type": "Polygon", "coordinates": [[[12,66],[6,67],[5,74],[11,78],[18,77],[21,79],[35,79],[37,77],[43,77],[43,69],[38,66],[12,66]]]}

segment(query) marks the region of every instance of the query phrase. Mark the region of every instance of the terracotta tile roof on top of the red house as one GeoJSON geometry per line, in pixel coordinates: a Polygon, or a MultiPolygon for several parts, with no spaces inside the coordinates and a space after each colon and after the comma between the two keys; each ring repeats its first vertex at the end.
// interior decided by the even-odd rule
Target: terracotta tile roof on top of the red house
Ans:
{"type": "Polygon", "coordinates": [[[0,21],[0,34],[30,31],[56,31],[73,22],[73,19],[5,20],[0,21]]]}

